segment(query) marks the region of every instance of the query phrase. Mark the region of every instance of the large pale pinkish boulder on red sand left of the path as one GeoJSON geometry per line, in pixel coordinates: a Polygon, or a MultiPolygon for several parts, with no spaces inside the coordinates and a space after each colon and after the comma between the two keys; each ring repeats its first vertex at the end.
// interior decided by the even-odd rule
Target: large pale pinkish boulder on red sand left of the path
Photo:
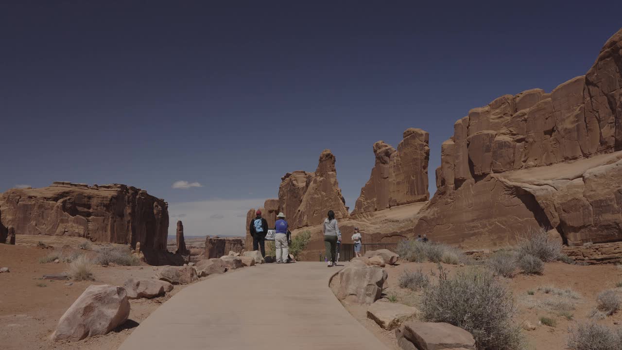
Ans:
{"type": "Polygon", "coordinates": [[[52,339],[78,341],[106,334],[123,324],[128,316],[129,301],[125,288],[91,285],[65,311],[52,339]]]}

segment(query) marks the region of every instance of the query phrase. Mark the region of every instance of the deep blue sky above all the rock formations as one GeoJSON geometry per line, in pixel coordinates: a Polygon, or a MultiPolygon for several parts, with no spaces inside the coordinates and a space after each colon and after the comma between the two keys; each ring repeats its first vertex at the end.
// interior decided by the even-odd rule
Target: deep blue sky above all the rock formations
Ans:
{"type": "Polygon", "coordinates": [[[433,192],[456,120],[584,74],[620,13],[619,1],[5,1],[0,191],[124,183],[169,202],[171,231],[182,217],[188,235],[242,234],[248,207],[325,148],[353,207],[372,144],[415,127],[430,133],[433,192]]]}

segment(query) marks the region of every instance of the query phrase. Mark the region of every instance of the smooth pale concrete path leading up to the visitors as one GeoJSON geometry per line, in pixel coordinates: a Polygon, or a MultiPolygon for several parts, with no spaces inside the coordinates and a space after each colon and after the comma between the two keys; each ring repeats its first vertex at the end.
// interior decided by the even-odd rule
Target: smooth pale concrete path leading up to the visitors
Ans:
{"type": "Polygon", "coordinates": [[[119,350],[386,350],[335,298],[321,262],[264,264],[184,288],[119,350]]]}

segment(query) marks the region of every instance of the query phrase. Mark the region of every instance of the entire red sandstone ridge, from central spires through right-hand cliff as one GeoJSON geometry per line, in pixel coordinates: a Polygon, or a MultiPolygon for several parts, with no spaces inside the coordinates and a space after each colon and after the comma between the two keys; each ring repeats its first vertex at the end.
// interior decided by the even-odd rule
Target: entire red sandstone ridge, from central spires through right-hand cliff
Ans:
{"type": "MultiPolygon", "coordinates": [[[[284,212],[294,236],[312,233],[315,252],[322,248],[320,224],[328,209],[340,218],[346,243],[355,226],[366,242],[427,234],[467,249],[513,244],[517,234],[538,227],[570,246],[620,241],[622,29],[586,75],[550,93],[503,95],[458,120],[441,146],[430,201],[425,131],[406,130],[397,151],[383,141],[373,151],[376,163],[351,214],[335,157],[324,151],[315,173],[282,177],[279,197],[266,201],[264,217],[272,227],[276,213],[284,212]]],[[[251,209],[247,227],[253,217],[251,209]]]]}

